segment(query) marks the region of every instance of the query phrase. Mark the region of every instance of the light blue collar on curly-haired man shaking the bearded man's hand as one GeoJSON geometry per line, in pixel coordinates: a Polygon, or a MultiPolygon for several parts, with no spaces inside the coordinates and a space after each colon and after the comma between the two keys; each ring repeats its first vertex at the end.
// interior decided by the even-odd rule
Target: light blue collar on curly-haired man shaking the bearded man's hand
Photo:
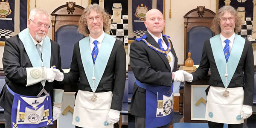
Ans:
{"type": "Polygon", "coordinates": [[[93,58],[91,55],[89,36],[79,41],[79,48],[81,53],[81,60],[84,67],[84,72],[87,76],[87,80],[93,92],[96,91],[99,85],[99,81],[101,80],[102,75],[105,71],[105,68],[107,66],[108,59],[112,52],[115,41],[116,41],[115,38],[105,33],[102,45],[99,49],[99,54],[96,58],[94,65],[93,65],[93,58]],[[93,86],[93,80],[92,80],[93,68],[94,68],[94,76],[96,78],[96,80],[94,81],[94,86],[93,86]]]}

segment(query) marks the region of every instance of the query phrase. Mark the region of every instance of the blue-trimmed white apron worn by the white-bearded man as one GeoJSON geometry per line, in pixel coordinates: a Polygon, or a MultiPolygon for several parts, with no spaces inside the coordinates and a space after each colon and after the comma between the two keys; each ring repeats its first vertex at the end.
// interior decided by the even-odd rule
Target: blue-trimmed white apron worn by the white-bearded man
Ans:
{"type": "Polygon", "coordinates": [[[53,124],[51,96],[24,96],[14,93],[6,85],[12,95],[12,128],[38,128],[53,124]]]}

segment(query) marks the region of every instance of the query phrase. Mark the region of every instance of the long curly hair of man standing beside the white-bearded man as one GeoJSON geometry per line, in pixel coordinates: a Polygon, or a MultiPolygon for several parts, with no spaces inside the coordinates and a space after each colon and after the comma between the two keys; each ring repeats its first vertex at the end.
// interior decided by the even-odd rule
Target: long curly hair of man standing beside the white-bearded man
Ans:
{"type": "Polygon", "coordinates": [[[84,36],[88,36],[90,34],[90,31],[87,25],[87,17],[90,14],[91,10],[95,10],[96,12],[102,15],[103,31],[108,32],[111,24],[110,15],[107,12],[105,12],[105,10],[102,9],[99,6],[99,4],[96,4],[96,3],[90,4],[89,6],[87,6],[86,9],[84,9],[84,12],[79,19],[78,31],[84,36]]]}

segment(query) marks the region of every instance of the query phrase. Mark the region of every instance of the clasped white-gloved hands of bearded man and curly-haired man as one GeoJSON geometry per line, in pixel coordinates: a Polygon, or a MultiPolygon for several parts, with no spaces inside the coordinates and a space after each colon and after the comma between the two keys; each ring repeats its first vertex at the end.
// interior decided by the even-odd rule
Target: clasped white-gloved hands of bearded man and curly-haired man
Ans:
{"type": "Polygon", "coordinates": [[[56,68],[47,68],[46,69],[46,80],[48,82],[56,81],[63,81],[64,75],[61,73],[60,70],[56,68]]]}

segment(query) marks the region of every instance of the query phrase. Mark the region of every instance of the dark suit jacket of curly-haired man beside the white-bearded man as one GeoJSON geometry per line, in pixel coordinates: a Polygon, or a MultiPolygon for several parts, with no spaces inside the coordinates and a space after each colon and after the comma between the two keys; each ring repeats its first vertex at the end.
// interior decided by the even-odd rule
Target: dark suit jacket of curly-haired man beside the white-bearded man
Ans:
{"type": "MultiPolygon", "coordinates": [[[[126,58],[124,44],[122,41],[116,40],[102,79],[99,81],[99,85],[96,89],[96,92],[113,92],[111,109],[118,111],[121,111],[122,109],[122,99],[125,90],[125,78],[126,58]]],[[[78,80],[79,90],[92,92],[90,84],[87,80],[87,76],[84,72],[83,63],[81,61],[79,42],[77,42],[74,46],[70,72],[64,73],[63,82],[75,83],[78,80]]]]}

